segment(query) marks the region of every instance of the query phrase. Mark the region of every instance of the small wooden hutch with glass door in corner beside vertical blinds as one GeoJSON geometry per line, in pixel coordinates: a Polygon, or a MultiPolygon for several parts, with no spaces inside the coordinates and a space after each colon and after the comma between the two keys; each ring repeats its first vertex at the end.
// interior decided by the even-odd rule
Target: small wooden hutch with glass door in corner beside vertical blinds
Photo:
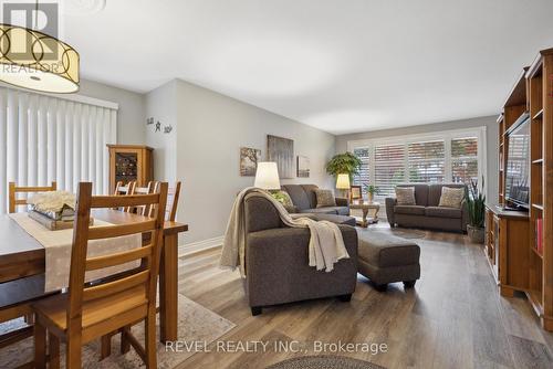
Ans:
{"type": "Polygon", "coordinates": [[[109,191],[115,184],[136,181],[146,186],[154,180],[154,149],[139,145],[107,145],[109,149],[109,191]]]}

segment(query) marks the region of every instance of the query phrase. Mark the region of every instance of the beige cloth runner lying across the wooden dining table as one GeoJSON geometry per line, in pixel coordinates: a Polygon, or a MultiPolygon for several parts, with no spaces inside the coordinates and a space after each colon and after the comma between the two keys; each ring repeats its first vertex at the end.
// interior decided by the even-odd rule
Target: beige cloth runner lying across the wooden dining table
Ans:
{"type": "MultiPolygon", "coordinates": [[[[10,214],[29,235],[35,239],[45,251],[45,286],[44,292],[52,292],[69,286],[71,265],[71,247],[73,230],[51,231],[29,218],[28,213],[10,214]]],[[[94,219],[94,226],[111,225],[111,223],[94,219]]],[[[142,234],[131,234],[114,239],[88,241],[88,257],[101,256],[133,250],[142,246],[142,234]]],[[[139,261],[86,272],[85,281],[94,281],[139,266],[139,261]]]]}

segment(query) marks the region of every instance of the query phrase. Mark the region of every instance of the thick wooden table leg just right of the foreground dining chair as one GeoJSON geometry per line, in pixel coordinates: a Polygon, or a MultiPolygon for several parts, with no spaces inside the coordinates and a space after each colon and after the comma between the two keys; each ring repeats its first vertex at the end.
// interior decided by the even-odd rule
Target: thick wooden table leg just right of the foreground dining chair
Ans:
{"type": "Polygon", "coordinates": [[[159,339],[178,339],[178,234],[164,236],[159,270],[159,339]]]}

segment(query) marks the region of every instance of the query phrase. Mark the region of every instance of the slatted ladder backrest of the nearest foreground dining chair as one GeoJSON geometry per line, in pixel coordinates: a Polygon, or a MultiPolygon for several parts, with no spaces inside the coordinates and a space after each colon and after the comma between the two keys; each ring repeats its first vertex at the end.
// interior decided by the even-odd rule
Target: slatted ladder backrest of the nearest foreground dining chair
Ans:
{"type": "MultiPolygon", "coordinates": [[[[83,303],[101,301],[115,294],[133,293],[134,303],[156,309],[156,286],[163,244],[164,213],[167,201],[167,183],[158,186],[158,192],[128,196],[92,196],[92,183],[79,183],[76,218],[73,224],[73,244],[70,266],[67,334],[82,333],[83,303]],[[139,217],[137,221],[91,226],[91,209],[155,205],[153,218],[139,217]],[[88,241],[150,233],[149,243],[131,251],[87,256],[88,241]],[[119,277],[111,277],[85,284],[85,273],[105,267],[142,261],[140,266],[119,277]],[[73,331],[72,331],[73,330],[73,331]]],[[[129,214],[129,217],[138,217],[129,214]]],[[[152,312],[149,312],[152,313],[152,312]]]]}

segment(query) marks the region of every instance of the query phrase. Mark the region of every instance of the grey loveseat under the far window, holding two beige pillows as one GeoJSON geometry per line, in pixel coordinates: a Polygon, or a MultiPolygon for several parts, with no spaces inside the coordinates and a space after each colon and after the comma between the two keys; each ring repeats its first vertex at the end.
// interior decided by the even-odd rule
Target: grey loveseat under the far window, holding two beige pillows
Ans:
{"type": "Polygon", "coordinates": [[[386,215],[392,226],[413,226],[442,231],[466,232],[468,209],[440,208],[441,188],[466,188],[462,183],[405,183],[398,187],[415,188],[415,205],[398,205],[395,198],[386,199],[386,215]]]}

